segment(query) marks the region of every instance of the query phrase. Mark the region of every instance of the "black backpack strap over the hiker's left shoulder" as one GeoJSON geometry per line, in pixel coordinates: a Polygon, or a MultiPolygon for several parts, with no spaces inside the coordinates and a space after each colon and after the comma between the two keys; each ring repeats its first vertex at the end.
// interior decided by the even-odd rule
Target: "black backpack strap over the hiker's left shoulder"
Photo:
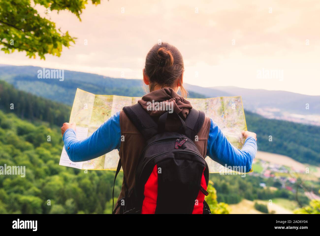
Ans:
{"type": "Polygon", "coordinates": [[[157,134],[158,126],[156,122],[151,118],[148,112],[143,109],[140,103],[136,103],[132,106],[125,106],[123,110],[145,139],[150,139],[157,134]]]}

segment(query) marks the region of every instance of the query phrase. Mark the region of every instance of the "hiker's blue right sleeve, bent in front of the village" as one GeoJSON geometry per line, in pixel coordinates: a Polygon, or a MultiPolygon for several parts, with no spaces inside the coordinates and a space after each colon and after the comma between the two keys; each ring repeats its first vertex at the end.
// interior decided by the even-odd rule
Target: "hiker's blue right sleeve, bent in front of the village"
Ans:
{"type": "Polygon", "coordinates": [[[243,166],[245,167],[245,172],[249,172],[256,153],[257,141],[255,138],[248,137],[242,149],[239,150],[232,146],[218,125],[211,120],[207,156],[212,160],[223,166],[225,164],[228,166],[243,166]]]}

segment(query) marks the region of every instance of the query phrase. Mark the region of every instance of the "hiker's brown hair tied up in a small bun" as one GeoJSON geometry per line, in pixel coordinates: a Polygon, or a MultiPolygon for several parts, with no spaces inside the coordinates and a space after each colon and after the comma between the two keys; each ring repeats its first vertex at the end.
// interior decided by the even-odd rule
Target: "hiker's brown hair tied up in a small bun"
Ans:
{"type": "Polygon", "coordinates": [[[182,86],[181,75],[184,71],[183,58],[180,51],[169,43],[155,44],[146,56],[144,72],[149,77],[149,90],[156,85],[162,88],[180,80],[181,96],[187,97],[188,92],[182,86]]]}

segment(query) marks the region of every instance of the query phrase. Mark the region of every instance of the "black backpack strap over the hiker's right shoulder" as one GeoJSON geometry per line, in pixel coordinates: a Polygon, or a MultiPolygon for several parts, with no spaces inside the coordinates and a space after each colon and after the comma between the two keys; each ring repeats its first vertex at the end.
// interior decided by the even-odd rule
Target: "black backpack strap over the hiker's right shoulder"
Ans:
{"type": "Polygon", "coordinates": [[[196,109],[191,109],[187,118],[185,120],[186,123],[186,135],[194,140],[197,133],[202,128],[204,122],[205,114],[203,111],[198,111],[196,109]]]}

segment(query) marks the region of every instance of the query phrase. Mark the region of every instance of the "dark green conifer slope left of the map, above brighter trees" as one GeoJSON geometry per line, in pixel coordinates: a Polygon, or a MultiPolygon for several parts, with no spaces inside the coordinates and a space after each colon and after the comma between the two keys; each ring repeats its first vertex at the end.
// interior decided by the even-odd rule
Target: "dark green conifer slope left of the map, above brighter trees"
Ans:
{"type": "Polygon", "coordinates": [[[0,80],[0,109],[22,119],[40,120],[58,126],[69,121],[71,112],[67,105],[17,90],[3,80],[0,80]]]}

